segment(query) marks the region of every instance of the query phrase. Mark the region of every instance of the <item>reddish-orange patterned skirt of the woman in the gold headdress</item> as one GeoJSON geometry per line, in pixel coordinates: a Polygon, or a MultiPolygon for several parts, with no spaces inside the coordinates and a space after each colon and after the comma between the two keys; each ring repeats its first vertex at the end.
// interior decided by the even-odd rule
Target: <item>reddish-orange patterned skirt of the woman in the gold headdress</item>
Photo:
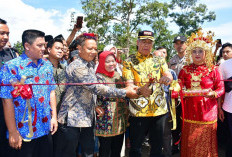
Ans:
{"type": "Polygon", "coordinates": [[[217,122],[185,122],[181,132],[181,157],[218,157],[217,122]]]}

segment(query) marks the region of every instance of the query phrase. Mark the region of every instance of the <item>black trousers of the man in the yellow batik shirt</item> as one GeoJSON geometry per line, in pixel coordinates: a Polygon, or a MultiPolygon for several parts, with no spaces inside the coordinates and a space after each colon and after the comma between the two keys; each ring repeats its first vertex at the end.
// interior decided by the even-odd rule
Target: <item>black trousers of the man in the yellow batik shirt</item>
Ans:
{"type": "MultiPolygon", "coordinates": [[[[130,118],[130,157],[141,157],[141,147],[146,133],[149,133],[149,143],[151,145],[150,157],[164,157],[164,136],[169,115],[157,117],[131,117],[130,118]]],[[[165,147],[167,150],[168,148],[165,147]]],[[[171,149],[171,148],[170,148],[171,149]]]]}

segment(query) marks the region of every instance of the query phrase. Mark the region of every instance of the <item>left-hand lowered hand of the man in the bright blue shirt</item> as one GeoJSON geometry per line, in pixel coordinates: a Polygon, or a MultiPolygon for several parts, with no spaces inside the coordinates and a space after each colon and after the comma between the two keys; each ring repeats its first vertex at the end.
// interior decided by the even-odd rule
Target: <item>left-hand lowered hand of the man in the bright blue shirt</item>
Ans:
{"type": "Polygon", "coordinates": [[[14,132],[9,132],[9,144],[14,149],[21,149],[22,137],[18,130],[15,130],[14,132]]]}

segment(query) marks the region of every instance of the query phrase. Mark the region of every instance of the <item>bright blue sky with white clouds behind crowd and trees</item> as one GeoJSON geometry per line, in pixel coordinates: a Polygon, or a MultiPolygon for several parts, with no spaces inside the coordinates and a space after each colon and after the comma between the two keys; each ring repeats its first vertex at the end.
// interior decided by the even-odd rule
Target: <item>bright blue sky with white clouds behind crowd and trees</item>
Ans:
{"type": "MultiPolygon", "coordinates": [[[[200,3],[216,13],[216,20],[204,23],[202,28],[215,32],[215,38],[222,43],[232,43],[232,1],[200,0],[200,3]]],[[[8,22],[12,44],[21,41],[26,29],[39,29],[53,36],[63,34],[67,38],[72,28],[71,13],[85,16],[81,7],[80,0],[1,0],[0,18],[8,22]]],[[[176,33],[177,26],[171,23],[169,29],[176,33]]],[[[85,23],[81,31],[87,31],[85,23]]]]}

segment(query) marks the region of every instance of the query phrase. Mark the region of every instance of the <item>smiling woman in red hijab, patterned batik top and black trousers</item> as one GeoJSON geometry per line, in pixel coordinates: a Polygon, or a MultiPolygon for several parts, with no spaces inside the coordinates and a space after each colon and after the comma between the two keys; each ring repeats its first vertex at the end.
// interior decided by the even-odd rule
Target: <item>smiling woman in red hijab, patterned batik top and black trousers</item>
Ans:
{"type": "MultiPolygon", "coordinates": [[[[103,51],[99,55],[96,75],[101,83],[122,88],[122,78],[117,71],[116,57],[113,52],[103,51]]],[[[104,109],[103,116],[97,116],[96,136],[99,138],[100,157],[120,157],[124,132],[126,131],[128,109],[125,99],[98,97],[98,103],[104,109]]]]}

